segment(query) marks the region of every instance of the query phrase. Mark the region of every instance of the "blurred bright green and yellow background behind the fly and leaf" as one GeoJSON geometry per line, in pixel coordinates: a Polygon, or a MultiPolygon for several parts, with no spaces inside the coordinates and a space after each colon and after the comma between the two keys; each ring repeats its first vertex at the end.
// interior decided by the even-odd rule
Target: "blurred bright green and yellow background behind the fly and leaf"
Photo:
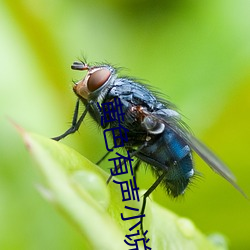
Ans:
{"type": "MultiPolygon", "coordinates": [[[[123,66],[169,96],[250,195],[249,13],[247,0],[1,1],[0,249],[81,248],[81,235],[36,191],[39,173],[8,117],[47,137],[64,132],[72,80],[83,76],[70,65],[82,55],[123,66]]],[[[96,162],[106,149],[93,124],[63,143],[96,162]]],[[[184,198],[158,188],[154,199],[204,233],[224,234],[230,249],[250,249],[250,202],[195,160],[203,177],[184,198]]],[[[153,180],[142,169],[138,186],[153,180]]]]}

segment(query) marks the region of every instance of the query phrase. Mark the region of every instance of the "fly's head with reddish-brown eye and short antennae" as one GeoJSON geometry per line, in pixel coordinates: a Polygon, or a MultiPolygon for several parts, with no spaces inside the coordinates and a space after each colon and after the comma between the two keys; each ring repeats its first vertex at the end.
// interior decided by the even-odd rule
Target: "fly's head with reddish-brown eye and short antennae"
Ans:
{"type": "Polygon", "coordinates": [[[99,100],[105,93],[105,87],[116,77],[115,69],[110,65],[89,66],[83,62],[74,62],[71,69],[88,71],[86,76],[73,87],[75,94],[84,100],[99,100]]]}

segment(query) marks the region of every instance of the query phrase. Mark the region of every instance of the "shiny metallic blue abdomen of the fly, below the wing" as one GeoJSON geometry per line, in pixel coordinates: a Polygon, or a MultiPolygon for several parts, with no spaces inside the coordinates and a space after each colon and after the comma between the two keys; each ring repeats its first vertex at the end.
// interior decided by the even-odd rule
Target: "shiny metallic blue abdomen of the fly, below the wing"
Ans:
{"type": "Polygon", "coordinates": [[[183,194],[194,175],[189,146],[169,129],[152,140],[137,157],[150,164],[157,176],[166,173],[163,184],[171,196],[183,194]]]}

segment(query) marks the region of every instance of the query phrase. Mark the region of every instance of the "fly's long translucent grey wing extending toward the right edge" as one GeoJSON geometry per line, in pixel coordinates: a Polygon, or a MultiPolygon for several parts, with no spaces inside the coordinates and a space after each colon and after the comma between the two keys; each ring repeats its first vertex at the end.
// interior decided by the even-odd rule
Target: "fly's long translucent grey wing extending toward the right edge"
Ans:
{"type": "MultiPolygon", "coordinates": [[[[169,113],[169,111],[167,112],[169,113]]],[[[155,119],[162,122],[166,127],[173,130],[182,140],[184,140],[190,148],[192,148],[216,173],[221,175],[229,183],[231,183],[243,196],[247,195],[237,185],[236,178],[228,167],[202,142],[196,139],[185,127],[179,117],[162,114],[153,114],[155,119]]]]}

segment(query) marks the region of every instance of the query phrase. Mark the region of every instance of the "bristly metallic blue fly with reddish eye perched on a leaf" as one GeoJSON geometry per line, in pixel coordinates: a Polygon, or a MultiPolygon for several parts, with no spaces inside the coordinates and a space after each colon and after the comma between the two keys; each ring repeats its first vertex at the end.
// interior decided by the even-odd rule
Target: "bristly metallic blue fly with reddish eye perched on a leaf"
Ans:
{"type": "MultiPolygon", "coordinates": [[[[59,141],[76,132],[87,113],[101,126],[102,113],[97,102],[101,105],[120,98],[125,114],[121,125],[128,130],[125,149],[137,158],[134,172],[144,162],[157,176],[143,196],[141,214],[147,197],[159,184],[163,184],[172,197],[184,193],[195,174],[193,151],[246,197],[227,166],[189,132],[172,103],[158,98],[146,85],[132,78],[119,77],[117,70],[109,64],[90,66],[85,62],[74,62],[71,68],[87,71],[87,74],[73,87],[78,99],[71,127],[53,139],[59,141]],[[78,117],[80,102],[85,111],[78,117]]],[[[106,126],[116,125],[111,122],[106,126]]]]}

